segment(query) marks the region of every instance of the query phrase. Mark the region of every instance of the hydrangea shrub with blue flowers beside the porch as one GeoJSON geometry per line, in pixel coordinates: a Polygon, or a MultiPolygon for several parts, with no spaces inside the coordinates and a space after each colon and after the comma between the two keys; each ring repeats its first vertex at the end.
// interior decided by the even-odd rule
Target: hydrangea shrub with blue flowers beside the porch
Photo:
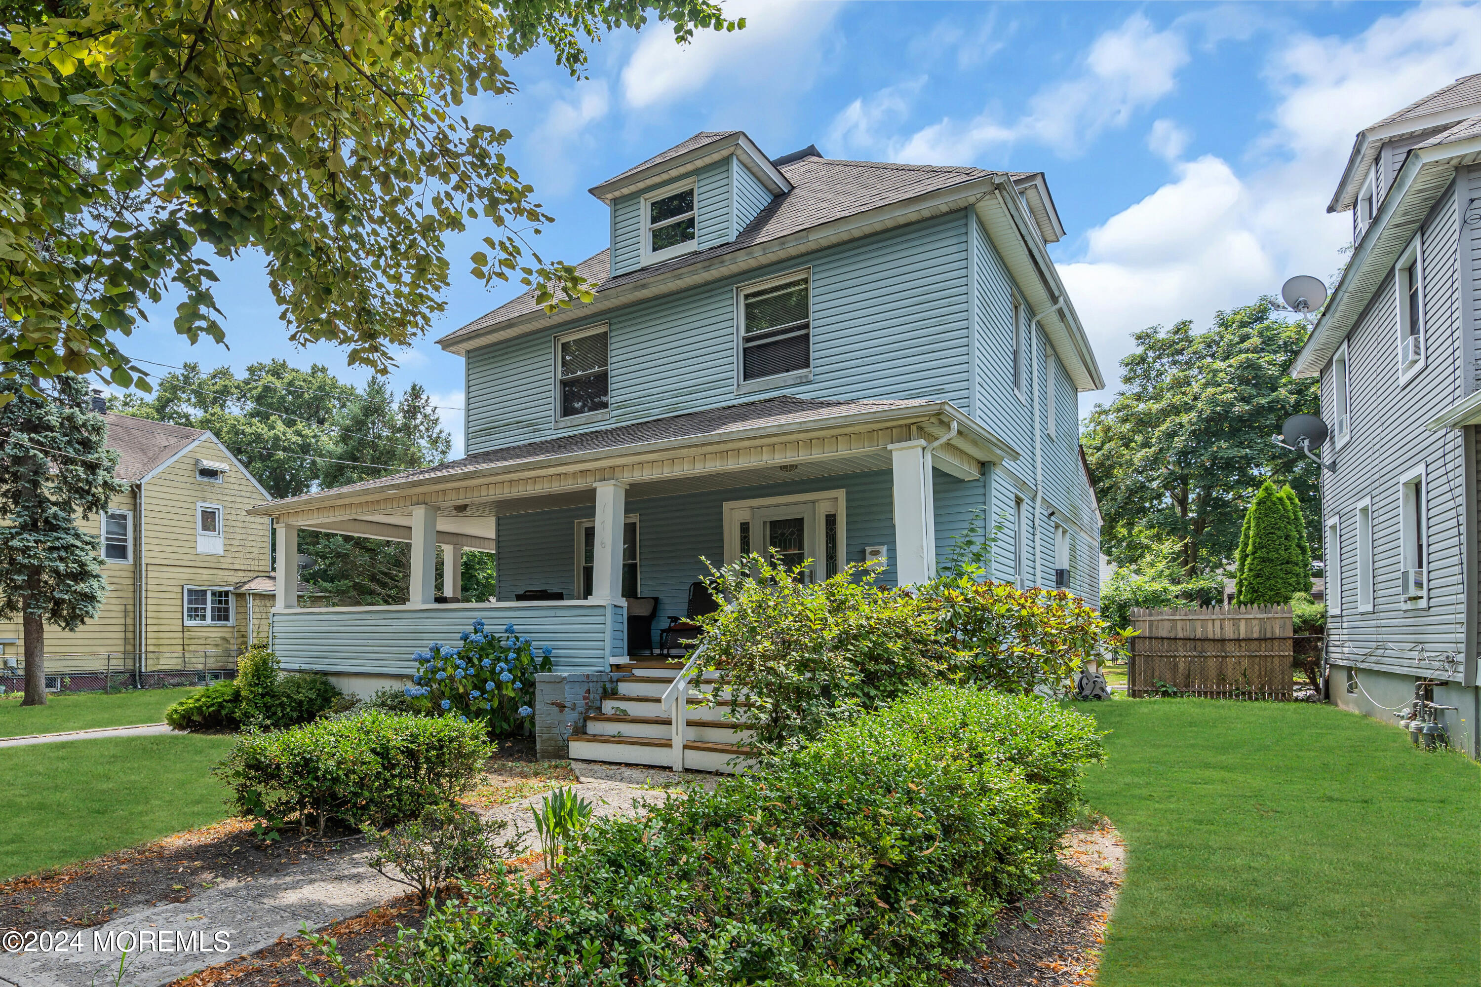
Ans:
{"type": "Polygon", "coordinates": [[[483,617],[464,630],[456,645],[434,641],[418,651],[416,673],[406,687],[412,706],[432,715],[484,721],[489,732],[532,732],[535,675],[551,670],[551,650],[541,648],[505,624],[504,633],[486,630],[483,617]]]}

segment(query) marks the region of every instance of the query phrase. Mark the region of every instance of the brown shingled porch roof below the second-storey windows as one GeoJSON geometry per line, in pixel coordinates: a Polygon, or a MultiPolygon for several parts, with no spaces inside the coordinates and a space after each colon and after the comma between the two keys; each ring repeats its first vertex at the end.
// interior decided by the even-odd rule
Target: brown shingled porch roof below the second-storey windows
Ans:
{"type": "MultiPolygon", "coordinates": [[[[769,425],[798,425],[844,414],[927,404],[936,404],[936,401],[823,401],[816,398],[794,398],[791,395],[782,395],[779,398],[767,398],[764,401],[730,404],[720,408],[674,414],[666,419],[652,419],[649,422],[619,425],[616,428],[598,429],[594,432],[561,435],[558,438],[524,442],[523,445],[505,445],[504,448],[474,453],[472,456],[455,459],[450,463],[441,463],[438,466],[427,466],[425,469],[413,469],[404,474],[394,474],[391,476],[366,479],[358,484],[335,487],[329,493],[341,494],[351,490],[401,485],[406,482],[416,482],[419,479],[452,475],[484,466],[511,466],[515,463],[533,463],[541,459],[552,459],[557,456],[615,451],[628,445],[643,445],[646,442],[659,442],[663,439],[723,437],[724,432],[740,429],[764,428],[769,425]]],[[[312,493],[299,494],[298,497],[274,500],[273,505],[278,506],[317,496],[318,494],[312,493]]]]}

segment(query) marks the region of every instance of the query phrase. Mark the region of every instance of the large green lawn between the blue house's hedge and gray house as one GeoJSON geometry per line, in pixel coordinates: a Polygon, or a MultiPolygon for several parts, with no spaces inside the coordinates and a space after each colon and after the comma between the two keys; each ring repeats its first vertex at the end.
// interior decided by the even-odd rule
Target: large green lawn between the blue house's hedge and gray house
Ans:
{"type": "Polygon", "coordinates": [[[1084,703],[1129,869],[1099,987],[1481,983],[1481,769],[1305,703],[1084,703]]]}

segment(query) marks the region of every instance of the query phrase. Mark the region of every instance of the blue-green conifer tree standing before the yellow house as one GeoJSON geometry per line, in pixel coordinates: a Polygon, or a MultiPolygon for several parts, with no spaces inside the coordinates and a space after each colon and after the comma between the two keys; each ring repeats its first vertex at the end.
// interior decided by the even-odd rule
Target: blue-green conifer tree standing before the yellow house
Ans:
{"type": "Polygon", "coordinates": [[[77,522],[104,512],[124,487],[80,377],[55,376],[41,389],[25,364],[0,364],[0,395],[10,398],[0,404],[0,620],[21,616],[22,706],[43,706],[46,624],[76,630],[108,592],[96,525],[77,522]]]}

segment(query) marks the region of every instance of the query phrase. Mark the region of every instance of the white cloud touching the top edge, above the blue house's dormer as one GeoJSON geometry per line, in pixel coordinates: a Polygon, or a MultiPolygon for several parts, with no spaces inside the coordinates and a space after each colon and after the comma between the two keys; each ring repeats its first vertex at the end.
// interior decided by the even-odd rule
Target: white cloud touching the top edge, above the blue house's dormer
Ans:
{"type": "Polygon", "coordinates": [[[837,3],[739,0],[726,16],[745,18],[742,31],[696,31],[689,44],[652,24],[622,70],[624,101],[643,110],[699,92],[712,78],[742,75],[748,90],[758,80],[810,75],[819,64],[818,40],[838,13],[837,3]]]}

